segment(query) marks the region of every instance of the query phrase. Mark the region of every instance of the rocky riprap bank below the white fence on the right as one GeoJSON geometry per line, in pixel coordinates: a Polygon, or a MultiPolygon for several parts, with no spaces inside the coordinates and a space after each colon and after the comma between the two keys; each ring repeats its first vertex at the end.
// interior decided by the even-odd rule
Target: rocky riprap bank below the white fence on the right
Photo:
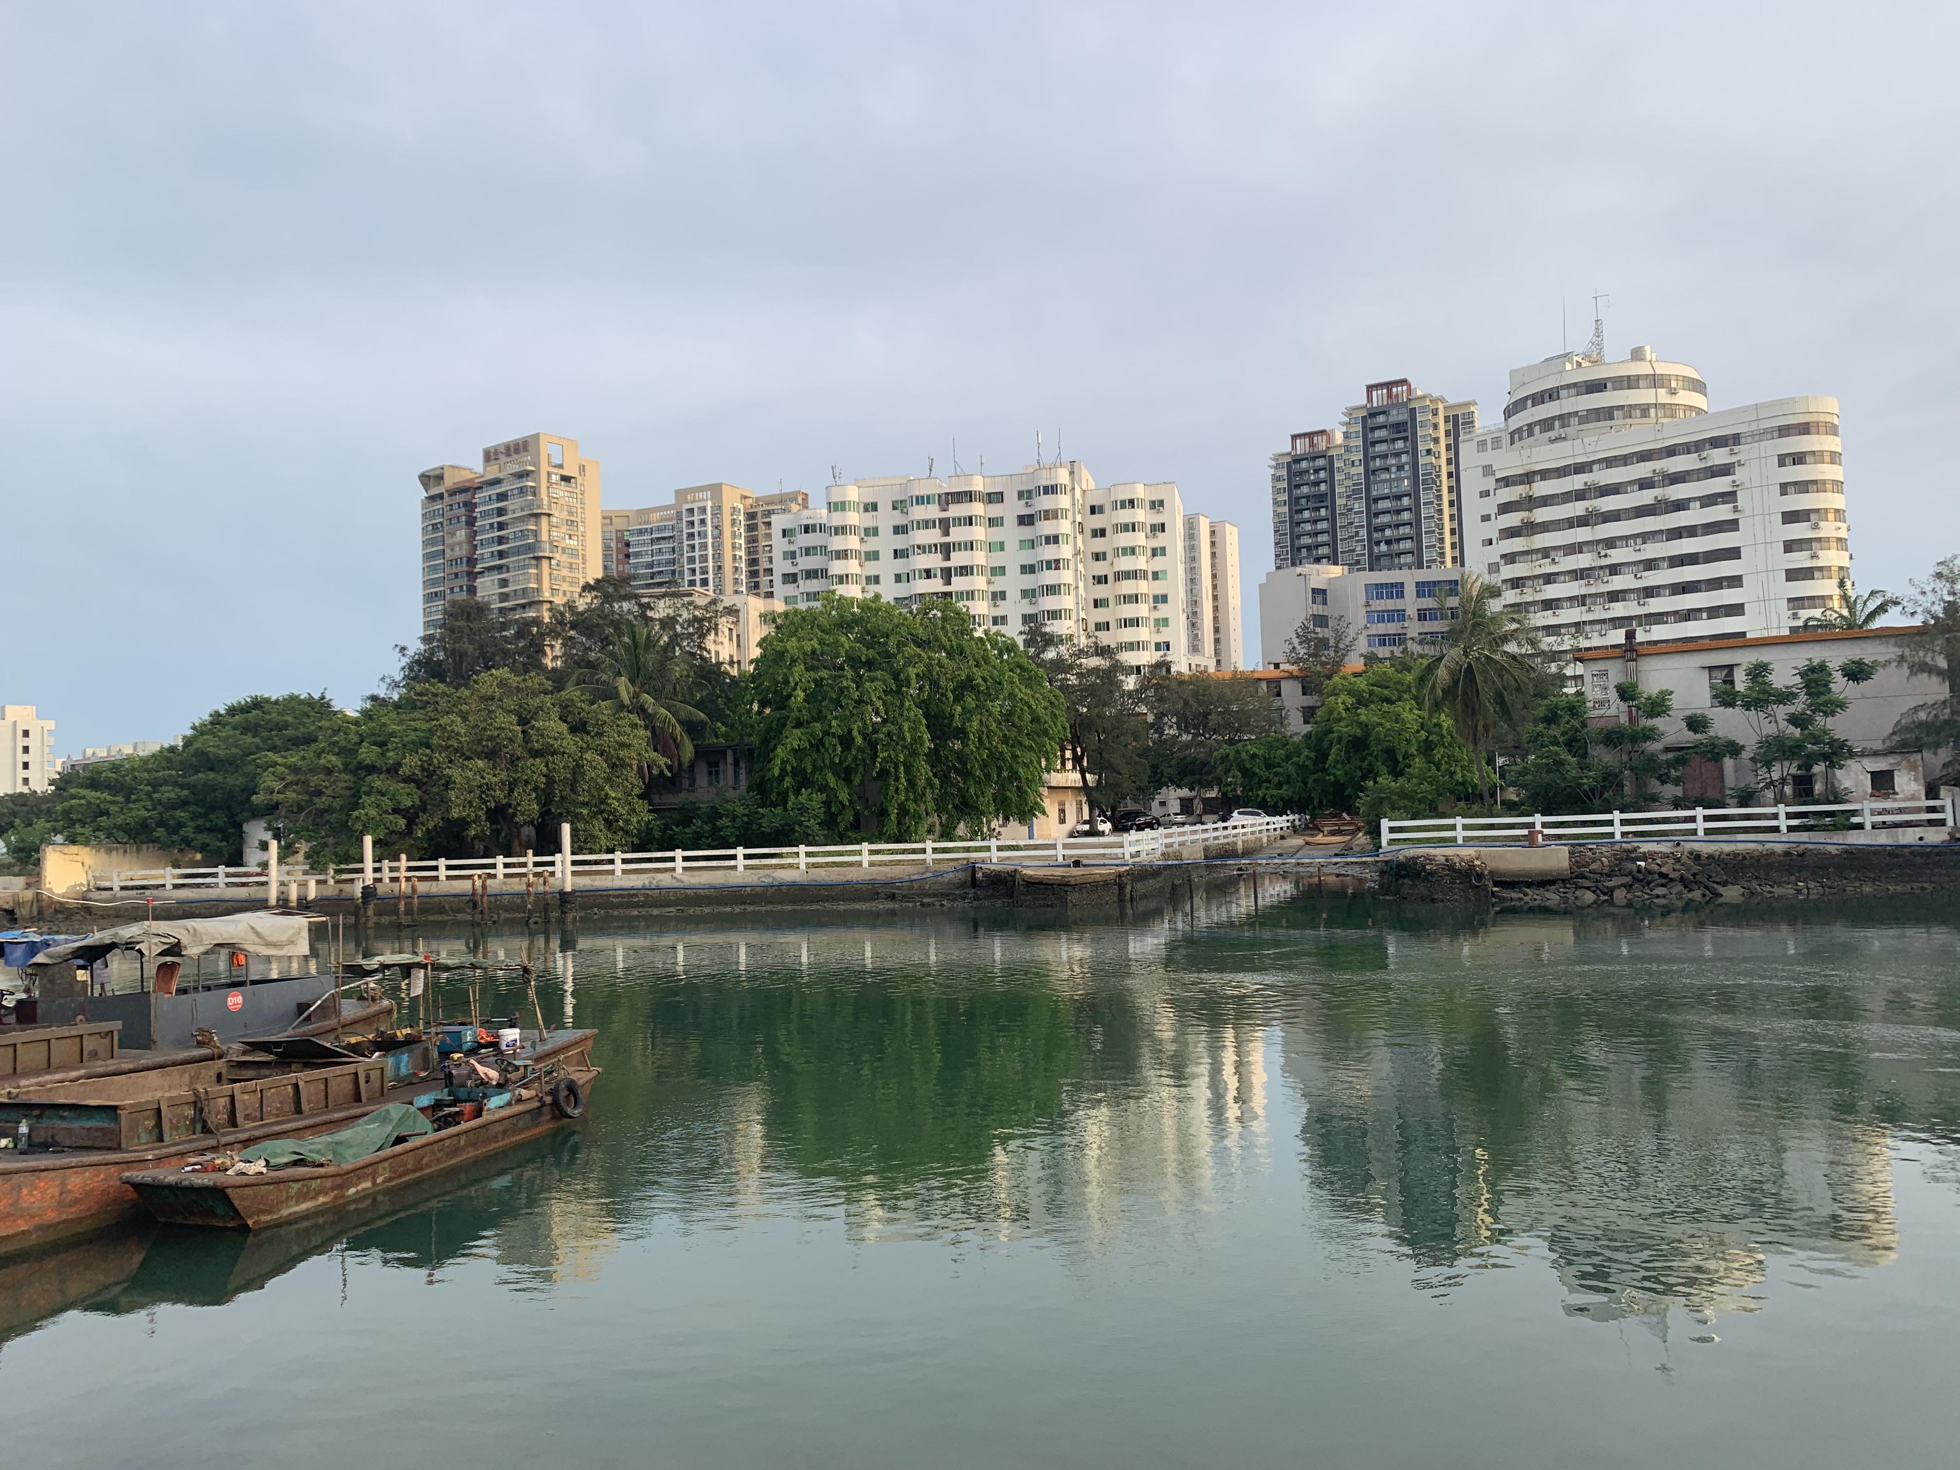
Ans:
{"type": "Polygon", "coordinates": [[[1590,843],[1431,849],[1399,853],[1384,862],[1382,892],[1427,904],[1550,911],[1960,894],[1960,845],[1590,843]]]}

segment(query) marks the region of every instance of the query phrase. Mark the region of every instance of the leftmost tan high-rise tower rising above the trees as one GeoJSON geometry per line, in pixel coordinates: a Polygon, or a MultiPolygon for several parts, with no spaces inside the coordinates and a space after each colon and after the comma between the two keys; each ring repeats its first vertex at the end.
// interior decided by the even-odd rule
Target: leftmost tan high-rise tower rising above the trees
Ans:
{"type": "Polygon", "coordinates": [[[482,468],[439,465],[421,480],[421,627],[451,598],[543,617],[600,576],[600,466],[553,433],[506,439],[482,468]]]}

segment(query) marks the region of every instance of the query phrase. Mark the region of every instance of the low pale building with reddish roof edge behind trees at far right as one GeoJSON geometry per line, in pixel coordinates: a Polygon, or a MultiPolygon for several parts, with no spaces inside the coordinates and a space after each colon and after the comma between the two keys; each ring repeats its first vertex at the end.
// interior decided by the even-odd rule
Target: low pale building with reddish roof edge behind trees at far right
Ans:
{"type": "MultiPolygon", "coordinates": [[[[1778,684],[1793,684],[1797,668],[1823,659],[1837,666],[1848,659],[1868,659],[1878,674],[1866,684],[1846,690],[1850,710],[1831,721],[1831,727],[1858,751],[1856,759],[1835,772],[1833,784],[1840,802],[1919,800],[1940,794],[1938,772],[1944,753],[1899,749],[1891,729],[1913,706],[1946,694],[1938,680],[1923,678],[1897,662],[1899,627],[1854,631],[1782,633],[1776,637],[1711,639],[1705,643],[1660,643],[1588,651],[1574,657],[1568,684],[1586,694],[1588,713],[1601,723],[1621,713],[1613,686],[1633,678],[1644,692],[1672,690],[1674,717],[1664,721],[1664,747],[1680,751],[1693,739],[1680,717],[1703,711],[1713,715],[1715,731],[1739,741],[1744,755],[1715,770],[1693,762],[1682,780],[1682,796],[1705,806],[1723,806],[1735,788],[1758,780],[1756,764],[1746,751],[1756,743],[1756,729],[1740,710],[1715,704],[1715,688],[1740,686],[1750,662],[1772,666],[1778,684]]],[[[1789,800],[1807,802],[1823,796],[1819,772],[1795,772],[1789,800]]],[[[1774,798],[1772,798],[1774,800],[1774,798]]]]}

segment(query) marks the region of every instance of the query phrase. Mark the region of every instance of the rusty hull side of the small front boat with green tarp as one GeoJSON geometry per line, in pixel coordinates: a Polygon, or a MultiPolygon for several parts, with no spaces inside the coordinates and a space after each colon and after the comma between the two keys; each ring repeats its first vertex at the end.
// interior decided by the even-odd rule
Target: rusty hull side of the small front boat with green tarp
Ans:
{"type": "MultiPolygon", "coordinates": [[[[564,1072],[590,1088],[598,1070],[566,1066],[564,1072]]],[[[410,1139],[378,1154],[333,1168],[278,1168],[267,1174],[184,1174],[182,1170],[143,1170],[123,1174],[143,1205],[172,1225],[214,1225],[220,1229],[267,1229],[306,1215],[374,1200],[392,1188],[425,1180],[474,1158],[510,1149],[568,1119],[549,1096],[512,1102],[468,1123],[410,1139]]]]}

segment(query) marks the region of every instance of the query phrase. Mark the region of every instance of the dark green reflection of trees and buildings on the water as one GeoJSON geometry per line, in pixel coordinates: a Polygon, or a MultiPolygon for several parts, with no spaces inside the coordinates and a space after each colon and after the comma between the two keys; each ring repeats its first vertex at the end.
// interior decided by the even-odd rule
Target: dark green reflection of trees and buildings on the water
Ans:
{"type": "Polygon", "coordinates": [[[1333,1243],[1437,1296],[1550,1270],[1570,1317],[1705,1325],[1760,1309],[1780,1254],[1887,1266],[1895,1141],[1960,1135],[1952,931],[1719,917],[1227,886],[1096,917],[388,935],[531,955],[566,1023],[576,994],[606,1068],[582,1127],[365,1219],[0,1266],[0,1337],[221,1305],[321,1250],[423,1278],[490,1260],[549,1292],[657,1229],[796,1219],[1096,1260],[1219,1249],[1266,1209],[1286,1213],[1247,1270],[1333,1243]]]}

